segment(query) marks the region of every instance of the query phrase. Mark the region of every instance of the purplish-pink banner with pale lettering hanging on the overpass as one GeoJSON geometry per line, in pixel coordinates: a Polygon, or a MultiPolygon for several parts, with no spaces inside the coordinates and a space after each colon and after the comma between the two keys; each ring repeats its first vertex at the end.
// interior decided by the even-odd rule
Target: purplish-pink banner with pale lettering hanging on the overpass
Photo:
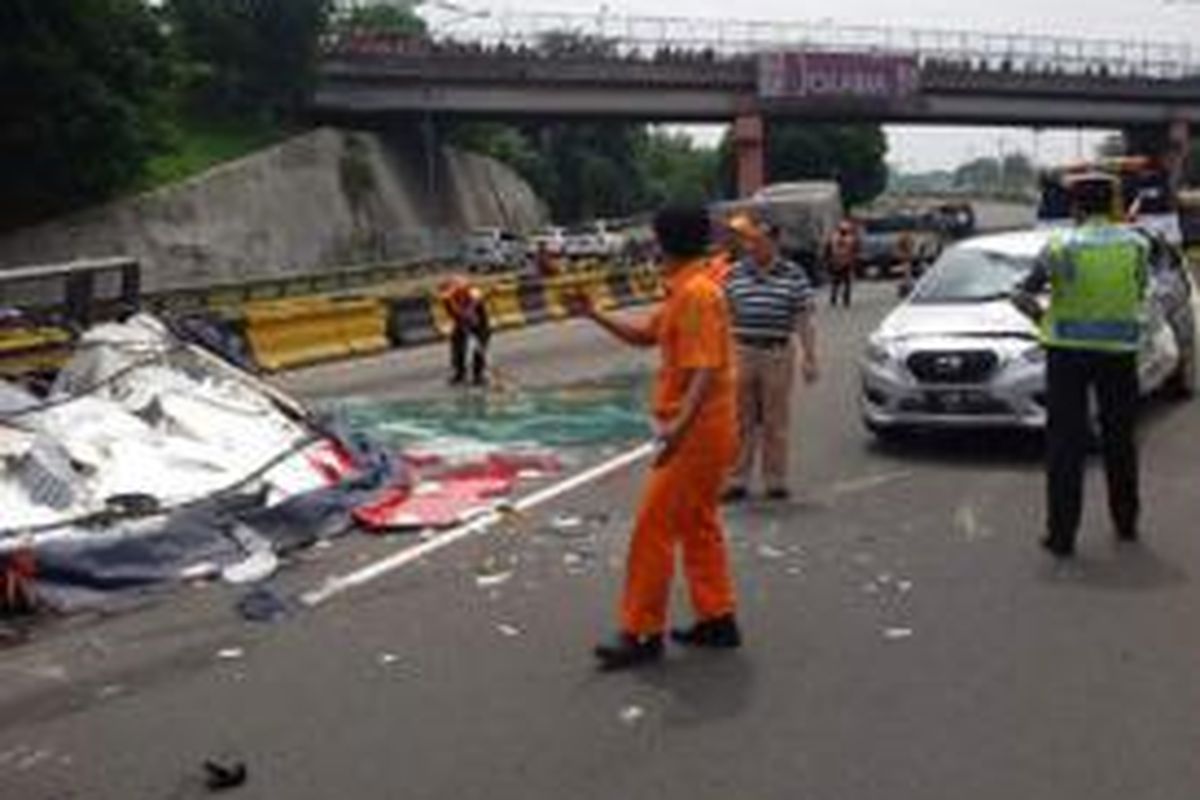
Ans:
{"type": "Polygon", "coordinates": [[[776,52],[758,56],[764,98],[896,100],[917,94],[917,60],[869,53],[776,52]]]}

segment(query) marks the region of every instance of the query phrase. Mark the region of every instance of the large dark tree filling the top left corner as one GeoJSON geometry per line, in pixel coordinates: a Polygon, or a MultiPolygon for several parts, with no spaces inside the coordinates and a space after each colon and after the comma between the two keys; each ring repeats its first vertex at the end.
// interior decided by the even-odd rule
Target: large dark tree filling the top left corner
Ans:
{"type": "Polygon", "coordinates": [[[104,199],[164,146],[175,71],[142,0],[7,0],[0,38],[0,227],[104,199]]]}

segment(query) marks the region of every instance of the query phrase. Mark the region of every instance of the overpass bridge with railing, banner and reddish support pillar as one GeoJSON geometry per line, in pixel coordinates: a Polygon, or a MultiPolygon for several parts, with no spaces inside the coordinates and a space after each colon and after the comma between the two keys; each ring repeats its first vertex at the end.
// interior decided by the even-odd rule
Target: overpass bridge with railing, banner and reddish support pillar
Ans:
{"type": "Polygon", "coordinates": [[[1115,127],[1182,172],[1190,44],[811,23],[480,12],[397,37],[336,26],[317,114],[734,124],[761,185],[764,120],[1115,127]]]}

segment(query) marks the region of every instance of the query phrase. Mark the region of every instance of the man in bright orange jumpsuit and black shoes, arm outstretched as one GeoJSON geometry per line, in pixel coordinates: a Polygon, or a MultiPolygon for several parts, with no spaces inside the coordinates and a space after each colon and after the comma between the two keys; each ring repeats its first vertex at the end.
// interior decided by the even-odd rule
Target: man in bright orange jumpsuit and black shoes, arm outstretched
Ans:
{"type": "Polygon", "coordinates": [[[708,258],[703,209],[660,211],[654,231],[662,251],[666,300],[648,319],[629,321],[587,299],[572,309],[636,347],[658,347],[653,414],[659,450],[630,542],[620,631],[600,644],[601,669],[624,669],[662,656],[677,547],[696,621],[672,632],[684,645],[736,648],[733,579],[720,517],[720,494],[738,452],[733,343],[725,294],[708,258]]]}

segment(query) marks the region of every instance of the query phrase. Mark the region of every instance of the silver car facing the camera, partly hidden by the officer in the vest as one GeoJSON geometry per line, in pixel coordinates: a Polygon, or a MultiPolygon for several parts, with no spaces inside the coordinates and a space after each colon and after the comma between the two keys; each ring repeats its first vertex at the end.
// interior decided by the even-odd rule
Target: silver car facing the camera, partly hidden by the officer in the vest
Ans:
{"type": "MultiPolygon", "coordinates": [[[[1190,396],[1195,289],[1180,251],[1158,234],[1139,233],[1151,247],[1141,390],[1190,396]]],[[[937,259],[868,341],[860,373],[870,431],[1045,426],[1045,351],[1033,323],[1009,299],[1050,236],[979,236],[937,259]]]]}

